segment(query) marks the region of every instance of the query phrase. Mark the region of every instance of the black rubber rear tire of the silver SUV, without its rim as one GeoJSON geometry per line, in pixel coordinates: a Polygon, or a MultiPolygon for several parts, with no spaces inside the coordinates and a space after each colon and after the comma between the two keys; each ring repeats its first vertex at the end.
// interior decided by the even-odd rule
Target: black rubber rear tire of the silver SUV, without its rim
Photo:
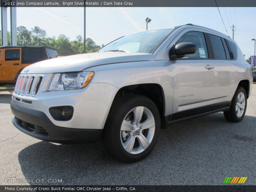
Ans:
{"type": "Polygon", "coordinates": [[[244,118],[244,115],[245,115],[245,112],[246,112],[246,107],[247,107],[247,93],[246,93],[246,91],[244,90],[243,87],[238,87],[236,89],[234,97],[233,97],[233,99],[231,101],[230,109],[229,109],[229,111],[224,111],[224,116],[230,122],[234,122],[234,123],[240,122],[244,118]],[[245,106],[244,106],[243,115],[241,117],[238,117],[236,115],[236,100],[237,100],[238,94],[240,94],[240,93],[244,93],[245,106]]]}

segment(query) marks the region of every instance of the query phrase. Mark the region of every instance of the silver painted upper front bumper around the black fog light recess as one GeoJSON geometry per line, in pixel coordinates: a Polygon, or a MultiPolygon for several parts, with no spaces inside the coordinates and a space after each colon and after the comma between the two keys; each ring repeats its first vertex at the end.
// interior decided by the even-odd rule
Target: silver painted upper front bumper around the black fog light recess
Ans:
{"type": "MultiPolygon", "coordinates": [[[[46,75],[44,77],[46,78],[46,75]]],[[[47,92],[47,84],[43,81],[35,97],[13,92],[12,102],[24,108],[43,112],[54,125],[60,127],[104,128],[112,101],[118,91],[115,86],[106,83],[90,83],[83,89],[47,92]],[[60,106],[74,108],[70,120],[59,121],[52,117],[49,109],[60,106]]]]}

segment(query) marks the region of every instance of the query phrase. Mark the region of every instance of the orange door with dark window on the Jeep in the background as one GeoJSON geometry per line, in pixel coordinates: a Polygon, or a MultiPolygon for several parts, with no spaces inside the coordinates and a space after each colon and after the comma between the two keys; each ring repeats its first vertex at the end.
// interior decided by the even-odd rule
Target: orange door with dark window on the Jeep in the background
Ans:
{"type": "Polygon", "coordinates": [[[6,81],[13,81],[21,68],[21,48],[3,49],[2,74],[6,81]]]}

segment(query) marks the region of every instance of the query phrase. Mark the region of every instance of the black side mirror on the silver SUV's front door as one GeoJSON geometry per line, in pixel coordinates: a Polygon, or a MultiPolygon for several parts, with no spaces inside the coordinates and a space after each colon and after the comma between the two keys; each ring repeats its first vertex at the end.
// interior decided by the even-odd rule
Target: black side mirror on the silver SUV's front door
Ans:
{"type": "Polygon", "coordinates": [[[190,42],[183,42],[173,45],[170,50],[170,59],[176,60],[184,57],[186,54],[194,54],[196,52],[196,45],[190,42]]]}

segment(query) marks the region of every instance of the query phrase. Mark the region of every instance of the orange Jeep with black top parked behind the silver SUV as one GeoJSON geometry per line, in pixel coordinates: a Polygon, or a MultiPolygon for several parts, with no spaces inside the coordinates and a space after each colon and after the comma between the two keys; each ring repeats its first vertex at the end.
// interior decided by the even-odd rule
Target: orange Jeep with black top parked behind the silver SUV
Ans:
{"type": "Polygon", "coordinates": [[[48,46],[0,47],[0,83],[15,82],[23,68],[57,56],[58,51],[48,46]]]}

